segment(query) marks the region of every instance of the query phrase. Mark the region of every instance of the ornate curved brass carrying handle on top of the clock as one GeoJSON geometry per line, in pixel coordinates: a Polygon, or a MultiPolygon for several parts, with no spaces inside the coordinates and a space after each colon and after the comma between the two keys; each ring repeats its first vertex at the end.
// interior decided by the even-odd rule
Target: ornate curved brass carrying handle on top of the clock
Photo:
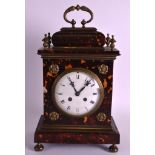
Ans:
{"type": "Polygon", "coordinates": [[[77,6],[71,6],[71,7],[69,7],[65,12],[64,12],[64,20],[67,22],[67,23],[70,23],[70,24],[72,24],[72,27],[73,28],[75,28],[75,24],[76,24],[76,21],[74,20],[74,19],[72,19],[71,21],[69,21],[68,19],[67,19],[67,13],[69,13],[69,12],[71,12],[71,11],[74,11],[74,10],[77,10],[77,11],[79,11],[79,10],[82,10],[82,11],[86,11],[86,12],[88,12],[88,13],[90,13],[90,19],[89,20],[87,20],[87,21],[85,21],[84,19],[81,21],[81,24],[82,24],[82,28],[85,28],[85,24],[87,24],[87,23],[90,23],[92,20],[93,20],[93,12],[89,9],[89,8],[87,8],[86,6],[79,6],[79,5],[77,5],[77,6]]]}

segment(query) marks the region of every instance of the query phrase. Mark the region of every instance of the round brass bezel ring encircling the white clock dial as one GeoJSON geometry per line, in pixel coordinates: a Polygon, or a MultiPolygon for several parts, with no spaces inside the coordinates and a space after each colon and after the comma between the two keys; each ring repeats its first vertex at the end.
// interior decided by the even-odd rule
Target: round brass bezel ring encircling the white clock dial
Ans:
{"type": "Polygon", "coordinates": [[[59,75],[57,76],[57,78],[55,79],[53,85],[52,85],[52,91],[51,91],[51,93],[52,93],[52,94],[51,94],[51,95],[52,95],[52,101],[53,101],[54,105],[58,108],[58,110],[59,110],[60,112],[62,112],[64,115],[66,115],[66,116],[71,116],[71,117],[76,117],[76,118],[81,118],[81,117],[83,117],[83,116],[89,116],[89,115],[93,114],[93,113],[100,107],[100,105],[102,104],[103,98],[104,98],[104,88],[103,88],[103,85],[102,85],[101,80],[99,79],[99,77],[98,77],[95,73],[93,73],[92,71],[90,71],[90,70],[88,70],[88,69],[84,69],[84,68],[72,68],[72,69],[70,69],[70,70],[66,70],[66,71],[62,72],[61,74],[59,74],[59,75]],[[65,74],[68,74],[68,73],[70,73],[70,72],[75,72],[75,71],[77,71],[77,72],[84,72],[84,73],[86,73],[86,74],[89,74],[93,79],[96,80],[96,82],[98,83],[99,88],[100,88],[100,99],[99,99],[98,103],[96,104],[96,106],[95,106],[91,111],[89,111],[88,113],[82,114],[82,115],[72,115],[72,114],[67,113],[66,111],[63,111],[63,110],[58,106],[57,102],[55,101],[55,93],[54,93],[54,92],[55,92],[55,87],[56,87],[57,82],[58,82],[65,74]]]}

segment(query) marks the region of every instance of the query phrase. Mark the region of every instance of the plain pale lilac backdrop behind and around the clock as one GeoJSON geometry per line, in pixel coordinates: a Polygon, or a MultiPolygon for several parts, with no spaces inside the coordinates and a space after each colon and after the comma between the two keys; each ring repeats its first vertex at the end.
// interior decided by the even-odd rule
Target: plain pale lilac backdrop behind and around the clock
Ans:
{"type": "MultiPolygon", "coordinates": [[[[63,20],[63,12],[71,5],[85,5],[94,13],[94,20],[87,27],[96,27],[104,34],[114,34],[116,47],[121,56],[115,60],[112,115],[121,134],[119,155],[130,154],[130,23],[129,0],[26,0],[26,155],[101,155],[109,145],[61,145],[45,144],[43,152],[33,150],[34,131],[43,112],[42,60],[37,49],[42,46],[44,33],[70,27],[63,20]]],[[[69,18],[80,20],[89,15],[83,12],[70,13],[69,18]]],[[[80,26],[80,24],[77,24],[80,26]]]]}

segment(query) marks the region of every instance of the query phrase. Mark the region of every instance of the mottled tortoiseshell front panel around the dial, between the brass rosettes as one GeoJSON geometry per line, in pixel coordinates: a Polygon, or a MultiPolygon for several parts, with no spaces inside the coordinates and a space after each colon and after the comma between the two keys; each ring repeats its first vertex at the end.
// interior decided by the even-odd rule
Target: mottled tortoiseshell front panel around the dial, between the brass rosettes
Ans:
{"type": "Polygon", "coordinates": [[[51,124],[81,124],[81,125],[109,125],[111,122],[111,102],[112,102],[112,78],[113,78],[113,60],[86,60],[86,59],[52,59],[43,58],[43,86],[44,86],[44,118],[46,123],[51,124]],[[49,68],[51,65],[58,65],[59,72],[52,73],[49,68]],[[99,72],[99,67],[105,64],[108,66],[108,72],[102,74],[99,72]],[[52,85],[59,74],[65,70],[72,68],[85,68],[94,72],[101,80],[104,87],[104,99],[100,108],[90,116],[83,118],[70,118],[63,115],[53,104],[51,98],[52,85]],[[59,113],[59,119],[51,121],[49,119],[51,112],[59,113]],[[105,113],[106,120],[103,122],[97,121],[96,115],[105,113]]]}

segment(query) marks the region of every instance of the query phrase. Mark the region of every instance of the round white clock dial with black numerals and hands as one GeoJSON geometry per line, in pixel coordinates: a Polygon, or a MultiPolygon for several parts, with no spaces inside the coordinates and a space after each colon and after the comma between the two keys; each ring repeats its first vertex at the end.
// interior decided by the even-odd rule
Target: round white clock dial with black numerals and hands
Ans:
{"type": "Polygon", "coordinates": [[[103,86],[98,76],[86,69],[72,69],[58,76],[53,85],[57,107],[72,116],[93,113],[103,100],[103,86]]]}

